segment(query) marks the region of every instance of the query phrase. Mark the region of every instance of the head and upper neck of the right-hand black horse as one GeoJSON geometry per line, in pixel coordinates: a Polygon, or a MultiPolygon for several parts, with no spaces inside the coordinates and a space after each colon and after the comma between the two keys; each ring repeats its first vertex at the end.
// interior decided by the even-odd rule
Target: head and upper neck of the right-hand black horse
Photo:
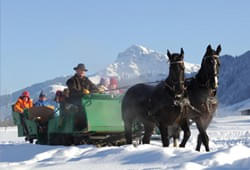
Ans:
{"type": "Polygon", "coordinates": [[[221,46],[218,45],[217,49],[212,49],[211,45],[208,45],[206,53],[202,59],[201,70],[197,74],[198,79],[202,84],[208,88],[218,88],[218,75],[220,68],[219,55],[221,52],[221,46]]]}

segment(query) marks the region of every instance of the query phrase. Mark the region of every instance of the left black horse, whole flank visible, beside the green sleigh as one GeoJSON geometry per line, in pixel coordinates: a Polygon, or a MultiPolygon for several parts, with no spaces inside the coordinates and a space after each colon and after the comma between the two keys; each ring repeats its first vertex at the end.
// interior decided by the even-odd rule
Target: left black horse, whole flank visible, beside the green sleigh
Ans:
{"type": "Polygon", "coordinates": [[[171,54],[169,76],[156,86],[137,84],[126,92],[122,101],[122,118],[125,123],[127,144],[132,143],[132,125],[135,120],[144,125],[142,142],[150,143],[155,124],[159,126],[163,146],[168,146],[166,125],[173,124],[181,116],[178,101],[184,96],[184,51],[171,54]],[[171,119],[167,115],[170,116],[171,119]],[[167,117],[167,118],[166,118],[167,117]]]}

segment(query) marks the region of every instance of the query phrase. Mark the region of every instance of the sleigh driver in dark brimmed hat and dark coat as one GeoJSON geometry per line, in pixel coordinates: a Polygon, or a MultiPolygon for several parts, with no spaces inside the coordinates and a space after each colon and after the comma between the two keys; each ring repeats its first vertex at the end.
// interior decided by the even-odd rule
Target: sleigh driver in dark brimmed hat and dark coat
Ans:
{"type": "Polygon", "coordinates": [[[96,85],[85,76],[88,70],[84,64],[78,64],[74,70],[76,74],[66,82],[70,98],[79,99],[91,92],[98,92],[96,85]]]}

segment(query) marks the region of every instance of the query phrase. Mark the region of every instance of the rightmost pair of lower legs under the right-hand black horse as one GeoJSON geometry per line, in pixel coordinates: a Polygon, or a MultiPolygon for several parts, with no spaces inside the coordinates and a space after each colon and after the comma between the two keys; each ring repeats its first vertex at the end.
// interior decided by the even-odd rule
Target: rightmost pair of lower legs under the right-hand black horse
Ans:
{"type": "Polygon", "coordinates": [[[202,126],[201,121],[196,122],[196,125],[200,132],[200,134],[198,135],[196,150],[200,151],[201,142],[202,142],[203,145],[205,146],[206,151],[209,152],[209,144],[208,144],[209,138],[208,138],[206,129],[202,126]]]}

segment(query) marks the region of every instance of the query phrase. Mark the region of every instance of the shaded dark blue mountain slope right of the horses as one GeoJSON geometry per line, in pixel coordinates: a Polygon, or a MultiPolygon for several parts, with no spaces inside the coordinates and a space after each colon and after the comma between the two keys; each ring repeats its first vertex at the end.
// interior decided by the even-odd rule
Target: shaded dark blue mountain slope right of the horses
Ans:
{"type": "Polygon", "coordinates": [[[250,51],[220,57],[219,101],[231,105],[250,99],[250,51]]]}

